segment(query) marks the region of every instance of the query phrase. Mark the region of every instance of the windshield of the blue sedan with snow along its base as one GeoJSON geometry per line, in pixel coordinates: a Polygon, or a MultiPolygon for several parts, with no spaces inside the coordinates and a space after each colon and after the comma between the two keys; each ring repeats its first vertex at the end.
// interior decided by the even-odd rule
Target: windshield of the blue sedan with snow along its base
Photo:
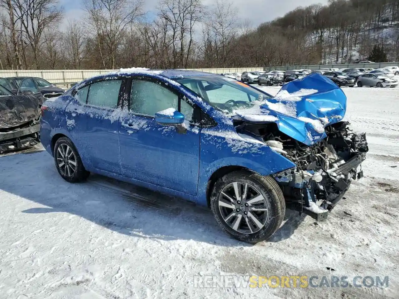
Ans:
{"type": "Polygon", "coordinates": [[[237,108],[251,107],[255,101],[272,98],[270,94],[227,77],[190,76],[173,80],[196,93],[213,108],[225,113],[232,112],[237,108]]]}

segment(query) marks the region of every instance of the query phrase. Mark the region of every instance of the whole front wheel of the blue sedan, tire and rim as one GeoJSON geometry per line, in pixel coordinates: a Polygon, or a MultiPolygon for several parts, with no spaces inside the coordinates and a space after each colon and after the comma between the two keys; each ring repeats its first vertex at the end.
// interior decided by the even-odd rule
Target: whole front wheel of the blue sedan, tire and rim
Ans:
{"type": "Polygon", "coordinates": [[[285,200],[272,177],[235,171],[216,182],[211,210],[222,230],[240,241],[257,243],[280,227],[285,200]]]}

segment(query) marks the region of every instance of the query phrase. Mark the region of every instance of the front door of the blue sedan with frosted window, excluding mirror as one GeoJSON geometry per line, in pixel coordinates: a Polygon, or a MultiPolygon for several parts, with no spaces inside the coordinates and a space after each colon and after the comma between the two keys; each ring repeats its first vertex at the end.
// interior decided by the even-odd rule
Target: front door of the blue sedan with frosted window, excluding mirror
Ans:
{"type": "Polygon", "coordinates": [[[129,98],[129,113],[119,127],[122,174],[195,195],[200,129],[192,129],[193,106],[172,87],[149,77],[132,80],[129,98]],[[182,112],[185,123],[158,124],[154,114],[168,108],[182,112]]]}

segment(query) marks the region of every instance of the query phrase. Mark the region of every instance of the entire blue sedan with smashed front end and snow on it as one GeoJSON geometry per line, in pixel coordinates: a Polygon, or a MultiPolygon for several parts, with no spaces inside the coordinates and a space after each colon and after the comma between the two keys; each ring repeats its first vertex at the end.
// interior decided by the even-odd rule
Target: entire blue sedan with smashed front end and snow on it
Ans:
{"type": "Polygon", "coordinates": [[[195,201],[254,243],[286,206],[324,219],[363,175],[365,134],[341,121],[345,110],[320,75],[272,97],[210,73],[120,69],[47,100],[40,136],[66,181],[92,172],[195,201]]]}

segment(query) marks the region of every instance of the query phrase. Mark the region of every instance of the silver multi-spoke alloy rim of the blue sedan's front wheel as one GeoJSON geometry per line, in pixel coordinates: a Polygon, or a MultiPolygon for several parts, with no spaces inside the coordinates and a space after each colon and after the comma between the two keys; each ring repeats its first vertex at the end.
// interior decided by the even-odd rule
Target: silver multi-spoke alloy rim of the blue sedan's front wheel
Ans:
{"type": "Polygon", "coordinates": [[[259,190],[244,182],[225,186],[219,195],[219,211],[230,228],[252,234],[261,230],[269,220],[269,200],[259,190]]]}

